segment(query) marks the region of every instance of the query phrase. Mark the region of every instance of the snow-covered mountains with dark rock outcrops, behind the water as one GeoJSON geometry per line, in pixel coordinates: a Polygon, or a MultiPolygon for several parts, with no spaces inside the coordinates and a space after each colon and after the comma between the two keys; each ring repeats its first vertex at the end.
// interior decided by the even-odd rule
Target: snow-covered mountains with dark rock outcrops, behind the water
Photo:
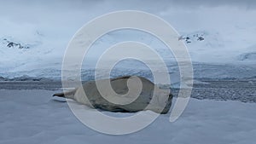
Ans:
{"type": "MultiPolygon", "coordinates": [[[[216,59],[204,58],[201,60],[201,56],[204,56],[203,54],[211,51],[218,52],[215,55],[223,55],[222,50],[220,50],[224,49],[226,45],[223,37],[219,33],[207,31],[182,33],[180,37],[177,37],[177,40],[183,41],[189,49],[194,63],[195,78],[253,78],[256,73],[256,68],[252,65],[256,57],[253,52],[241,53],[238,51],[238,55],[229,55],[226,58],[227,61],[219,61],[218,57],[216,59]]],[[[0,76],[3,77],[2,79],[61,79],[61,60],[65,47],[60,48],[55,45],[57,48],[53,48],[49,46],[49,39],[43,34],[37,34],[34,40],[26,42],[21,42],[15,37],[2,37],[0,40],[0,54],[2,55],[0,57],[0,76]]],[[[179,72],[172,52],[156,37],[145,32],[122,30],[109,32],[92,45],[88,54],[85,55],[86,60],[84,60],[82,67],[84,80],[93,78],[96,60],[104,50],[115,43],[123,41],[138,41],[148,44],[166,60],[170,73],[179,72]]],[[[123,61],[112,73],[113,77],[124,74],[137,74],[152,78],[146,66],[140,66],[139,63],[134,61],[123,61]],[[134,65],[140,68],[134,69],[134,65]]]]}

